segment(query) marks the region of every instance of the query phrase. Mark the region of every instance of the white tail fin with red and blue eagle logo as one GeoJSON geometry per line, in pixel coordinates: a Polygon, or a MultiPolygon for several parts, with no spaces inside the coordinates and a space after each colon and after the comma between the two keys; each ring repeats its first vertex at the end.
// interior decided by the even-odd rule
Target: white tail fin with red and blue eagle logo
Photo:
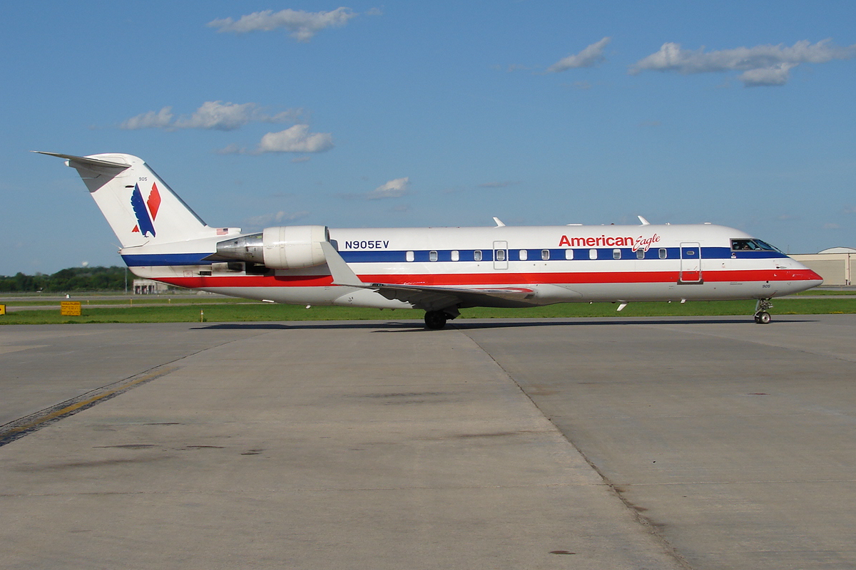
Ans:
{"type": "Polygon", "coordinates": [[[64,158],[77,169],[123,248],[205,238],[217,232],[136,156],[35,152],[64,158]]]}

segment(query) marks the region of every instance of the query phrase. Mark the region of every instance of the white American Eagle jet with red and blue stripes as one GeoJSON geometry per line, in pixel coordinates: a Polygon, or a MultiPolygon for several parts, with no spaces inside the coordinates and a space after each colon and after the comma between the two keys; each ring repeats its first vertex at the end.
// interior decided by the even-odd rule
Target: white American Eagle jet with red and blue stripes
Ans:
{"type": "Polygon", "coordinates": [[[425,310],[756,299],[823,283],[766,242],[710,223],[639,226],[211,227],[146,162],[51,152],[75,168],[141,278],[273,303],[425,310]]]}

